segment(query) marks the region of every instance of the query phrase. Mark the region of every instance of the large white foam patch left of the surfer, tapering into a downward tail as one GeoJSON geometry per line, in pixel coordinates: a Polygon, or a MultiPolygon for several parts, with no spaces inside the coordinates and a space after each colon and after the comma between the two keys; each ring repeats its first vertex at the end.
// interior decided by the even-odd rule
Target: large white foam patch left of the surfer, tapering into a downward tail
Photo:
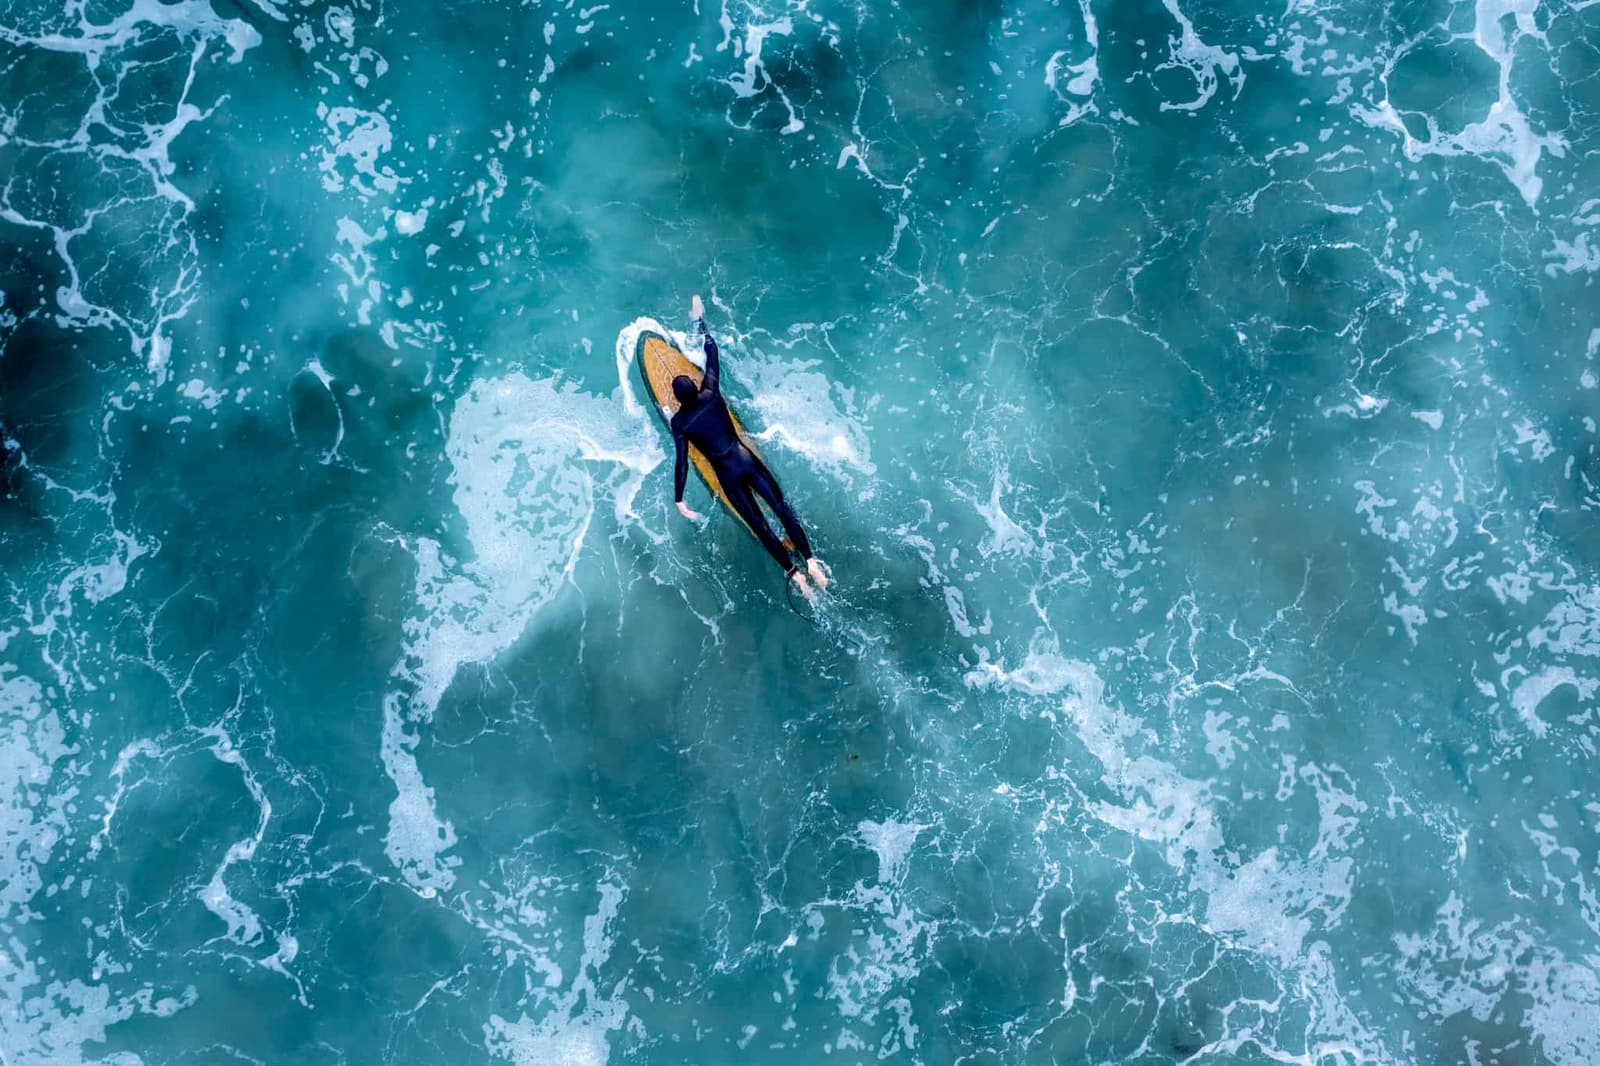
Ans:
{"type": "Polygon", "coordinates": [[[426,727],[456,671],[509,648],[568,579],[602,488],[619,520],[661,459],[645,432],[610,399],[522,373],[477,381],[450,419],[445,447],[461,559],[426,536],[408,544],[418,563],[416,611],[384,699],[382,763],[397,795],[386,853],[422,895],[454,884],[454,829],[437,813],[416,762],[426,727]]]}

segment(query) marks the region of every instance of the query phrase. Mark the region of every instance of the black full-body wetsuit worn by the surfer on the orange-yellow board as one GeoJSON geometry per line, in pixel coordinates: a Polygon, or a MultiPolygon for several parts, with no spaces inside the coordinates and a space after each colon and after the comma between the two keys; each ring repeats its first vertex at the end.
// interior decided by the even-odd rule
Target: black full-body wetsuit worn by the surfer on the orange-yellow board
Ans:
{"type": "Polygon", "coordinates": [[[739,432],[733,427],[733,416],[728,415],[728,403],[722,399],[717,341],[710,339],[704,319],[701,319],[699,328],[701,336],[706,338],[706,378],[701,383],[699,400],[693,407],[678,408],[678,413],[672,416],[672,443],[678,453],[677,467],[672,472],[674,499],[683,503],[683,482],[690,472],[688,447],[694,445],[701,455],[710,459],[733,509],[762,541],[766,554],[784,568],[786,575],[792,575],[797,570],[794,559],[773,533],[773,527],[766,523],[766,515],[755,504],[755,498],[760,496],[773,509],[802,559],[811,559],[811,543],[805,538],[805,530],[800,528],[800,519],[784,501],[784,490],[778,487],[778,479],[739,440],[739,432]]]}

